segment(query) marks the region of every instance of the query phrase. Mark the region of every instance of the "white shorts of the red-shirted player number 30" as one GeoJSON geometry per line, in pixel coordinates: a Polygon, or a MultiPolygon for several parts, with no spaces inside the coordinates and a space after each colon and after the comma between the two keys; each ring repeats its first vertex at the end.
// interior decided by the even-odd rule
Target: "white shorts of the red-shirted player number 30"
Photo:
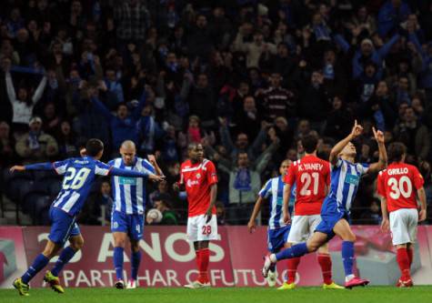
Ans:
{"type": "Polygon", "coordinates": [[[418,211],[401,208],[390,213],[390,231],[393,245],[415,243],[417,239],[418,211]]]}

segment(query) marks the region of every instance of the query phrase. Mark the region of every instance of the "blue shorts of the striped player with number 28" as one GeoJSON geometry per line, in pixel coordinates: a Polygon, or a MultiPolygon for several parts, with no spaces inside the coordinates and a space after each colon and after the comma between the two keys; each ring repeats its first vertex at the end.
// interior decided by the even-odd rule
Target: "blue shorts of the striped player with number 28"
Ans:
{"type": "Polygon", "coordinates": [[[76,217],[72,217],[58,207],[49,208],[49,218],[51,219],[51,230],[48,238],[55,244],[64,245],[69,237],[81,234],[76,224],[76,217]]]}

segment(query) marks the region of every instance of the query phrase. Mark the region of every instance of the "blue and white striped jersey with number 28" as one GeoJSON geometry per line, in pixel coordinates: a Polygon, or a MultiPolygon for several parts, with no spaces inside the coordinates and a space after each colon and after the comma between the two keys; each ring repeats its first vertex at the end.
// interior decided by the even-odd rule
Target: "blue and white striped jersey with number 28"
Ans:
{"type": "Polygon", "coordinates": [[[84,206],[85,199],[96,175],[108,176],[110,167],[92,157],[68,158],[53,163],[58,175],[65,175],[62,189],[53,202],[53,207],[75,216],[84,206]]]}

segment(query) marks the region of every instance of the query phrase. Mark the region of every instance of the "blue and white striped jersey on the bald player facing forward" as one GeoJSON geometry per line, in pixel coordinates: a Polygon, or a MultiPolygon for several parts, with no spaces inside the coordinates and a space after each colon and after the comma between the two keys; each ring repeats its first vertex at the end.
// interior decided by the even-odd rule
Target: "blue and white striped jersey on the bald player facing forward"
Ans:
{"type": "MultiPolygon", "coordinates": [[[[135,170],[146,174],[156,174],[155,167],[146,159],[136,157],[134,165],[127,167],[121,157],[108,162],[109,165],[122,169],[135,170]]],[[[141,215],[146,209],[146,182],[147,178],[112,177],[113,197],[115,207],[127,215],[141,215]]]]}

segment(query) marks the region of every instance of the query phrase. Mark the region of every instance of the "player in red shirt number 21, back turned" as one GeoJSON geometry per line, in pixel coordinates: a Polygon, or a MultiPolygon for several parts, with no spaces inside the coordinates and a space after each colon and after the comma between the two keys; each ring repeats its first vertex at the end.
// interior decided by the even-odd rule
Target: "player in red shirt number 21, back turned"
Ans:
{"type": "MultiPolygon", "coordinates": [[[[286,187],[284,190],[284,221],[289,222],[288,197],[291,188],[296,184],[296,204],[291,230],[288,236],[288,246],[306,241],[312,237],[316,227],[321,222],[321,207],[330,185],[330,164],[316,157],[318,139],[316,136],[308,135],[301,139],[305,149],[305,157],[297,160],[289,167],[285,177],[286,187]]],[[[328,253],[328,244],[325,243],[318,248],[318,263],[321,267],[325,289],[340,289],[332,279],[332,262],[328,253]]],[[[300,263],[300,257],[288,259],[288,280],[283,285],[284,289],[296,288],[296,270],[300,263]]]]}

